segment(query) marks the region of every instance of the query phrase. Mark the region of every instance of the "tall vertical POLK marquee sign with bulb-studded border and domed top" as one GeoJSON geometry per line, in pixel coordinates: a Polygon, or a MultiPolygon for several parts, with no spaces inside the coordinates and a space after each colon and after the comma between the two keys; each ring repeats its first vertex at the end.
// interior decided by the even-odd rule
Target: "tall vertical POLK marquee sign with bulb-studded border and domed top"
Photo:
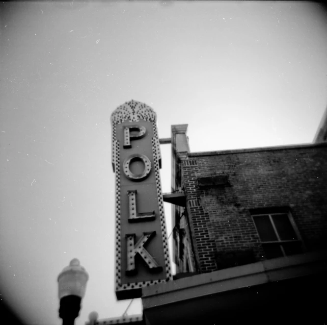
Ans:
{"type": "Polygon", "coordinates": [[[172,280],[159,168],[156,114],[130,101],[111,116],[116,178],[116,296],[140,297],[142,287],[172,280]]]}

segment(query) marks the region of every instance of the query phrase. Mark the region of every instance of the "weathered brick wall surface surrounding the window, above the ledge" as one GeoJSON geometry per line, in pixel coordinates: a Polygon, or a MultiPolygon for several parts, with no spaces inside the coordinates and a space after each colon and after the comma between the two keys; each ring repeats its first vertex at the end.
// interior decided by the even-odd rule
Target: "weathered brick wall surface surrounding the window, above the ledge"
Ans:
{"type": "Polygon", "coordinates": [[[252,251],[265,259],[250,209],[289,207],[308,251],[327,246],[327,146],[189,154],[182,164],[188,220],[201,272],[216,252],[252,251]],[[199,177],[229,183],[200,190],[199,177]]]}

